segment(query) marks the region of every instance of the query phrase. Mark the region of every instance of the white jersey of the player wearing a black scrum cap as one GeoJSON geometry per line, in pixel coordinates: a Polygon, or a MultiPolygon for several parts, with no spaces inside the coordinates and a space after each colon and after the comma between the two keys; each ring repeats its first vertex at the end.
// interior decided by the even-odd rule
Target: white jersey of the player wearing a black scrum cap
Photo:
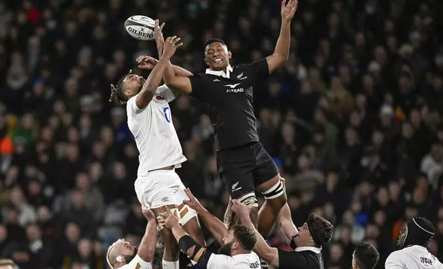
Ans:
{"type": "Polygon", "coordinates": [[[423,246],[407,246],[387,257],[386,269],[443,269],[442,263],[423,246]]]}

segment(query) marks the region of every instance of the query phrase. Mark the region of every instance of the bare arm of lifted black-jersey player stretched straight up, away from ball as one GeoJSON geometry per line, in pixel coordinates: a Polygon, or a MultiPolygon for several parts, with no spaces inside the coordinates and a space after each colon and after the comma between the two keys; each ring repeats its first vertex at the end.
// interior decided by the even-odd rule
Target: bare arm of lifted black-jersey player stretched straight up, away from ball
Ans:
{"type": "Polygon", "coordinates": [[[289,58],[289,49],[291,43],[291,20],[297,10],[298,0],[281,1],[281,29],[280,36],[275,45],[274,54],[266,57],[269,73],[281,67],[289,58]]]}

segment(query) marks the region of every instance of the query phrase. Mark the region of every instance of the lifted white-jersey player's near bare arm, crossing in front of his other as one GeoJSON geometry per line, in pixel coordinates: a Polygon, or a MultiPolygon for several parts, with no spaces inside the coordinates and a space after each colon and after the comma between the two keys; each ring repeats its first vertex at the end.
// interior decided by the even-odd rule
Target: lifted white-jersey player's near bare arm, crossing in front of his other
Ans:
{"type": "Polygon", "coordinates": [[[177,38],[177,36],[166,38],[162,57],[153,68],[151,74],[149,74],[146,82],[144,82],[142,90],[136,96],[136,105],[138,108],[146,108],[149,102],[151,102],[158,85],[162,81],[164,69],[166,68],[166,65],[168,65],[169,59],[174,55],[175,49],[181,45],[183,45],[183,43],[180,43],[180,38],[177,38]]]}

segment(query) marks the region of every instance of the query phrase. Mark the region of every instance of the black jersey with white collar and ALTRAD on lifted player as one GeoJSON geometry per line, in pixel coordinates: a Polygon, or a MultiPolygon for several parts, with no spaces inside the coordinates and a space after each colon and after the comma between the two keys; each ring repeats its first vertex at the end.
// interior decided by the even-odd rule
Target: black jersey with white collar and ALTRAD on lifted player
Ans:
{"type": "Polygon", "coordinates": [[[204,102],[215,130],[217,150],[238,148],[259,141],[254,114],[253,91],[269,76],[268,62],[237,65],[228,78],[210,73],[190,76],[191,96],[204,102]]]}

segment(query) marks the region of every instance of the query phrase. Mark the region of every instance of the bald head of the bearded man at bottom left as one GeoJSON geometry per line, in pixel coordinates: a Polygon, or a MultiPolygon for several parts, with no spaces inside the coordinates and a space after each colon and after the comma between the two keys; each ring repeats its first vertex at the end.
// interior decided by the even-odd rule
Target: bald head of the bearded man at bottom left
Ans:
{"type": "Polygon", "coordinates": [[[106,253],[106,260],[111,268],[120,268],[137,255],[137,247],[131,246],[125,239],[118,239],[114,244],[109,246],[106,253]]]}

